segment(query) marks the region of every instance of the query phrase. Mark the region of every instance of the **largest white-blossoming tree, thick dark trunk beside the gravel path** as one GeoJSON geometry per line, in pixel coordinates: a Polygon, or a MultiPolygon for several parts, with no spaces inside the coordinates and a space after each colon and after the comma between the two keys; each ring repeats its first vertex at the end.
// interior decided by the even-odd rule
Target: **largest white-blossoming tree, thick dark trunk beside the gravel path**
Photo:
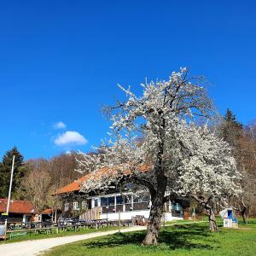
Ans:
{"type": "MultiPolygon", "coordinates": [[[[196,117],[208,119],[212,116],[212,102],[202,82],[202,78],[189,78],[187,69],[181,68],[167,81],[142,84],[143,96],[136,96],[130,89],[119,86],[128,99],[108,108],[113,121],[113,139],[108,147],[102,147],[102,154],[82,154],[78,160],[79,172],[93,172],[91,179],[84,183],[84,191],[101,191],[127,182],[148,189],[152,206],[143,245],[157,244],[166,201],[194,191],[198,195],[200,191],[194,187],[190,190],[187,185],[184,189],[191,177],[205,175],[202,190],[206,193],[206,181],[211,183],[209,179],[215,178],[207,176],[207,172],[217,172],[219,168],[218,172],[230,173],[230,168],[236,167],[232,165],[230,151],[218,148],[226,144],[218,142],[218,138],[208,135],[207,131],[198,131],[200,128],[193,124],[196,117]],[[138,141],[135,137],[143,139],[138,141]],[[204,146],[207,152],[201,148],[204,143],[208,143],[204,146]],[[228,155],[219,156],[219,153],[228,155]],[[207,154],[216,159],[220,157],[218,167],[212,163],[213,156],[207,157],[207,154]],[[224,167],[222,160],[230,164],[224,167]],[[193,167],[189,166],[192,162],[193,167]],[[109,167],[111,172],[108,172],[109,167]],[[102,168],[106,172],[98,175],[102,168]],[[185,177],[186,172],[189,177],[185,177]]],[[[212,193],[215,195],[218,189],[216,187],[212,193]]]]}

